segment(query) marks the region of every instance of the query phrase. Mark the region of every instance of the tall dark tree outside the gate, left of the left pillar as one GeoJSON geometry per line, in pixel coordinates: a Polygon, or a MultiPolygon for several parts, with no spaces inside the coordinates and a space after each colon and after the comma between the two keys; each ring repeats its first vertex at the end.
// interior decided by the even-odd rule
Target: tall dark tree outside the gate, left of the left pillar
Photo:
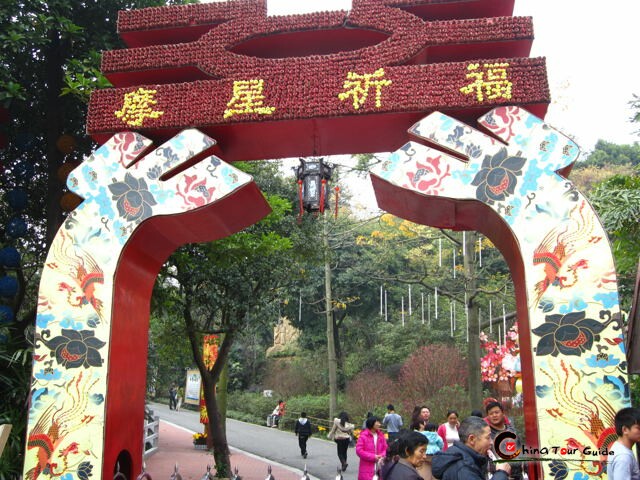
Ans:
{"type": "Polygon", "coordinates": [[[65,192],[66,174],[94,147],[84,133],[86,101],[92,89],[108,85],[99,72],[98,52],[123,46],[117,36],[118,10],[166,3],[14,0],[0,4],[0,109],[9,118],[8,145],[0,149],[0,189],[28,195],[26,205],[17,209],[10,195],[0,198],[0,224],[5,227],[0,246],[14,247],[21,254],[19,265],[0,265],[0,276],[18,282],[16,295],[3,300],[13,321],[0,327],[1,338],[7,340],[0,342],[0,355],[27,358],[2,365],[13,370],[13,378],[27,381],[15,384],[3,379],[2,390],[13,393],[0,400],[0,422],[12,423],[14,429],[0,464],[1,475],[17,475],[22,468],[31,368],[25,352],[31,350],[40,266],[64,219],[63,205],[73,208],[72,202],[78,201],[65,192]],[[16,234],[15,225],[27,228],[24,235],[16,234]]]}

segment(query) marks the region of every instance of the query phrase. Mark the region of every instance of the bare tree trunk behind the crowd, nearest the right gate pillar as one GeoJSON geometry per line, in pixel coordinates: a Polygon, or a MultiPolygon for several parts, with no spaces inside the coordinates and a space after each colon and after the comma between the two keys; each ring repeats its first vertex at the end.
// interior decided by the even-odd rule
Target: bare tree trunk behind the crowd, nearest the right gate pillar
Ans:
{"type": "Polygon", "coordinates": [[[469,342],[467,343],[467,362],[469,365],[469,399],[472,408],[482,405],[482,377],[480,374],[480,336],[478,307],[475,304],[477,277],[475,268],[475,246],[478,242],[477,232],[466,232],[464,256],[465,292],[467,294],[467,311],[469,314],[469,342]]]}

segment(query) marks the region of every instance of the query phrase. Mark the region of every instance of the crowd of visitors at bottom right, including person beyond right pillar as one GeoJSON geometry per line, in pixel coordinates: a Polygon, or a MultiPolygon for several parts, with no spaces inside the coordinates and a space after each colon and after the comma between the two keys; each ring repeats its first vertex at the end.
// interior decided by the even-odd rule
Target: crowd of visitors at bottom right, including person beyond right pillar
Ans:
{"type": "MultiPolygon", "coordinates": [[[[303,414],[304,417],[304,414],[303,414]]],[[[458,412],[447,412],[440,425],[430,422],[427,406],[417,406],[409,428],[393,405],[378,418],[367,414],[356,443],[358,480],[522,480],[526,463],[496,461],[495,439],[503,432],[518,433],[495,399],[485,401],[484,413],[474,410],[462,421],[458,412]],[[387,435],[382,430],[387,429],[387,435]]],[[[618,441],[607,467],[610,480],[640,480],[632,447],[640,442],[640,409],[625,408],[615,416],[618,441]]],[[[298,425],[296,425],[296,431],[298,425]]],[[[346,412],[334,419],[328,437],[336,442],[342,470],[347,469],[347,452],[355,425],[346,412]]],[[[308,437],[307,437],[308,438],[308,437]]],[[[519,441],[519,440],[517,440],[519,441]]],[[[306,458],[306,439],[304,440],[306,458]]],[[[301,443],[301,449],[302,443],[301,443]]]]}

